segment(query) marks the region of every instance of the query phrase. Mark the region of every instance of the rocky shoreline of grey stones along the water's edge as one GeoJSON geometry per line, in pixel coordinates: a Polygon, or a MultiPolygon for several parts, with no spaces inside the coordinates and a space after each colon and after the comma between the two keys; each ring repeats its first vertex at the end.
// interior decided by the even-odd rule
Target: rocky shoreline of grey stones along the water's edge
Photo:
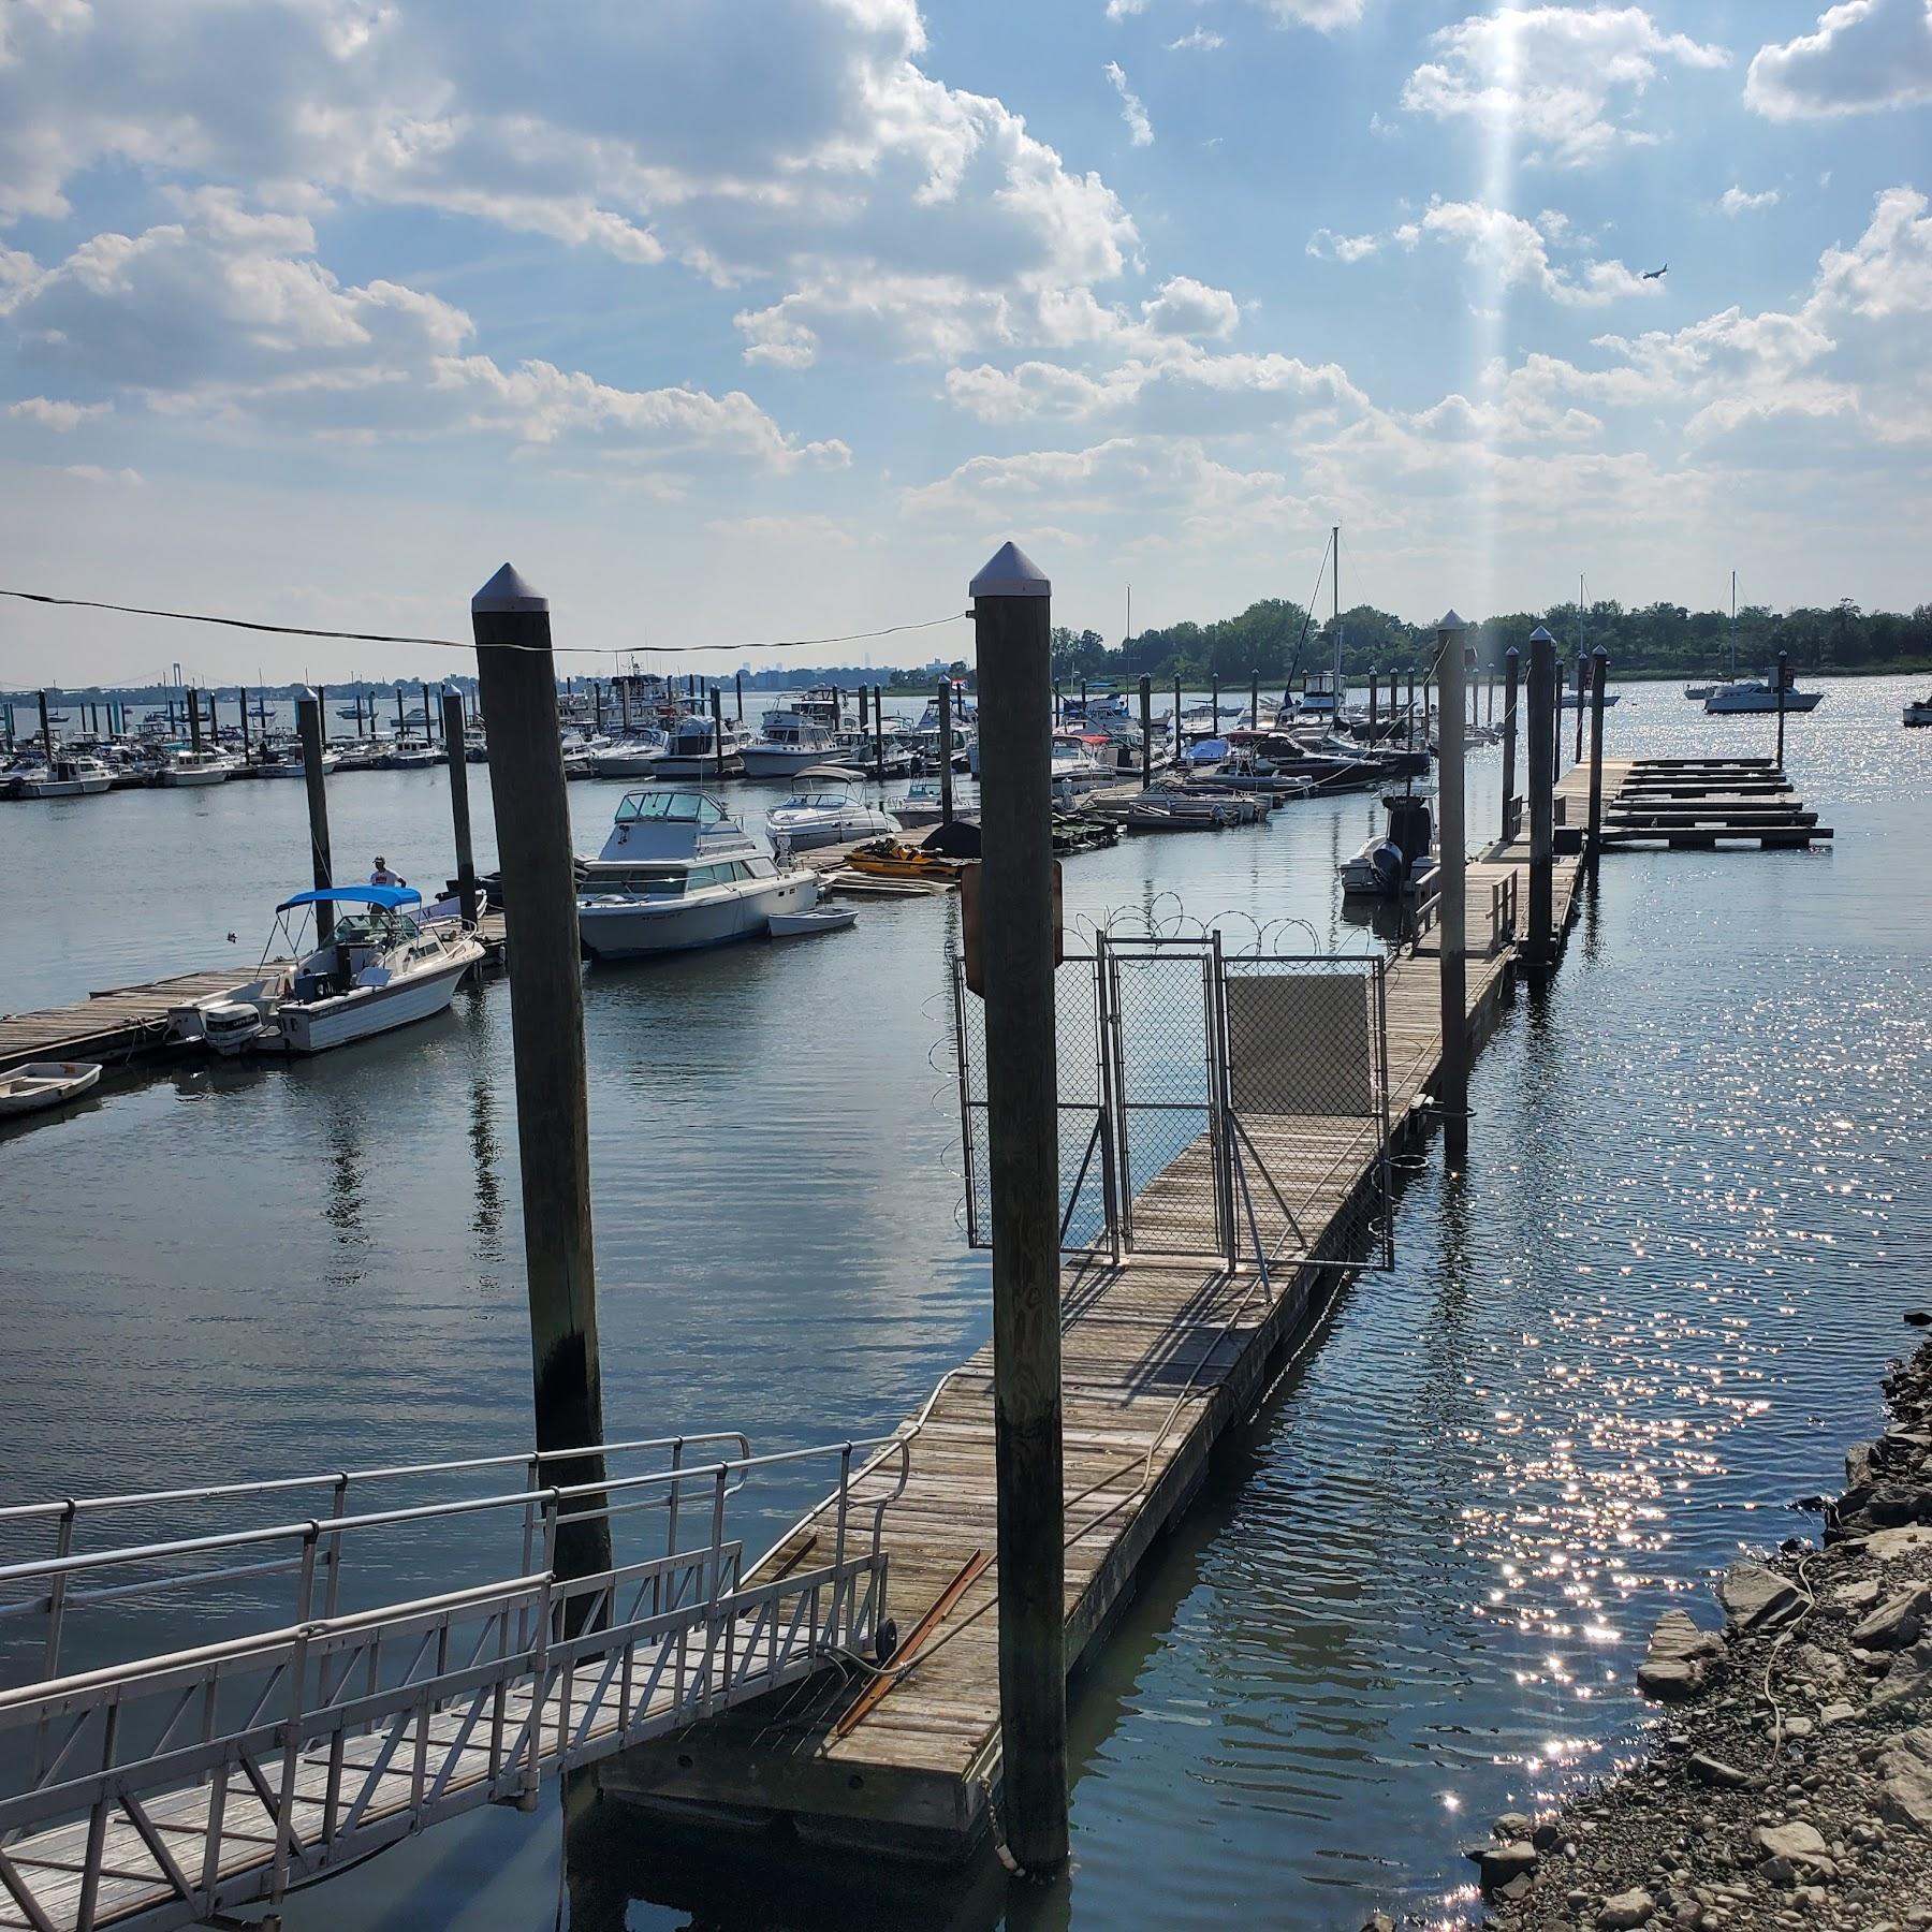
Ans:
{"type": "Polygon", "coordinates": [[[1932,1926],[1932,1341],[1893,1364],[1886,1403],[1845,1493],[1812,1499],[1822,1548],[1733,1567],[1721,1625],[1660,1619],[1648,1760],[1470,1849],[1486,1924],[1932,1926]]]}

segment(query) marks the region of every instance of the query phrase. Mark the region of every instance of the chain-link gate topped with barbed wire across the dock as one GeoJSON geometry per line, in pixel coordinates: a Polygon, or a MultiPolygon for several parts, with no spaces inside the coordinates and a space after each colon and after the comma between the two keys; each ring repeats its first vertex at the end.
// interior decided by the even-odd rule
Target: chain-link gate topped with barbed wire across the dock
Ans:
{"type": "MultiPolygon", "coordinates": [[[[1061,1248],[1393,1265],[1383,962],[1113,939],[1055,974],[1061,1248]]],[[[983,1007],[952,974],[966,1236],[991,1246],[983,1007]]]]}

